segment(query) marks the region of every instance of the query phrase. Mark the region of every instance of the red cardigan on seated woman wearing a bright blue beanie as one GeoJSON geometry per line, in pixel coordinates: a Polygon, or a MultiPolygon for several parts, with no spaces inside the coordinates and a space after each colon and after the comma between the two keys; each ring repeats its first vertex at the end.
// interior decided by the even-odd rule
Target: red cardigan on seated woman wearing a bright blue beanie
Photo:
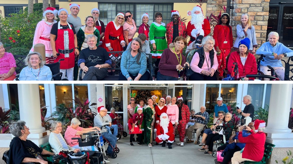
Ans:
{"type": "MultiPolygon", "coordinates": [[[[240,54],[238,52],[232,52],[229,59],[228,59],[228,73],[231,74],[233,71],[233,62],[238,63],[238,72],[239,72],[239,77],[240,76],[246,76],[246,75],[253,75],[258,73],[258,68],[256,65],[256,60],[254,55],[251,53],[248,53],[247,59],[245,62],[245,66],[243,66],[241,59],[240,59],[240,54]],[[245,69],[244,69],[245,68],[245,69]],[[243,72],[244,70],[244,72],[243,72]]],[[[253,80],[254,78],[249,78],[249,80],[253,80]]]]}

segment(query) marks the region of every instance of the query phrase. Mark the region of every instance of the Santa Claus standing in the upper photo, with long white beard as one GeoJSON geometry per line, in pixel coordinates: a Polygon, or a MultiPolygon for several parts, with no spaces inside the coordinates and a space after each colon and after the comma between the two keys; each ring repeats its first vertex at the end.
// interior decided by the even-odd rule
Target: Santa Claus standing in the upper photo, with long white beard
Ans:
{"type": "Polygon", "coordinates": [[[205,37],[211,32],[209,21],[204,18],[203,10],[200,6],[193,7],[191,21],[188,22],[186,31],[187,35],[190,36],[190,41],[188,42],[188,45],[191,42],[195,41],[198,35],[203,35],[205,37]],[[196,11],[200,13],[194,13],[196,11]]]}

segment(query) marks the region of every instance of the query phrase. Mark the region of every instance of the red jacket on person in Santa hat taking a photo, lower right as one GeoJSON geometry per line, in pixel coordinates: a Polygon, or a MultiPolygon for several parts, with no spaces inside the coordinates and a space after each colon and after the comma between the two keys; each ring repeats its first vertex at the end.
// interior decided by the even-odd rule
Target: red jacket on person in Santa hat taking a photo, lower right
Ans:
{"type": "Polygon", "coordinates": [[[251,159],[257,162],[263,159],[264,144],[266,141],[266,135],[264,132],[252,133],[247,137],[243,137],[242,132],[239,132],[238,140],[241,143],[246,143],[242,152],[242,158],[251,159]]]}

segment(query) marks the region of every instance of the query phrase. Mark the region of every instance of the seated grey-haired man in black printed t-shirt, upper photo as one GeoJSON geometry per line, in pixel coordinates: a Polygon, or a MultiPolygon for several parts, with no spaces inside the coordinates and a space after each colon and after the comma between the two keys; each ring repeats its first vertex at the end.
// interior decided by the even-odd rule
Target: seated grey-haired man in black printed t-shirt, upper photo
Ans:
{"type": "Polygon", "coordinates": [[[97,37],[93,34],[87,36],[88,48],[81,50],[79,54],[78,66],[86,72],[83,80],[101,80],[106,76],[108,67],[112,62],[108,52],[97,47],[97,37]]]}

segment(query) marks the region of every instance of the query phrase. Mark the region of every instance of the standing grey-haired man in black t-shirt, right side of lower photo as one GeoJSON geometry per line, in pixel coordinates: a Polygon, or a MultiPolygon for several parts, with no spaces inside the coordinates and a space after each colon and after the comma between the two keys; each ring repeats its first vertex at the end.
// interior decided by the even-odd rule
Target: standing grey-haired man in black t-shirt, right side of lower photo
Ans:
{"type": "Polygon", "coordinates": [[[243,112],[241,112],[241,108],[237,109],[237,112],[242,115],[241,125],[244,125],[244,118],[245,117],[251,117],[251,120],[253,120],[254,106],[251,103],[251,96],[249,96],[249,95],[244,96],[242,102],[246,106],[244,107],[243,112]]]}

